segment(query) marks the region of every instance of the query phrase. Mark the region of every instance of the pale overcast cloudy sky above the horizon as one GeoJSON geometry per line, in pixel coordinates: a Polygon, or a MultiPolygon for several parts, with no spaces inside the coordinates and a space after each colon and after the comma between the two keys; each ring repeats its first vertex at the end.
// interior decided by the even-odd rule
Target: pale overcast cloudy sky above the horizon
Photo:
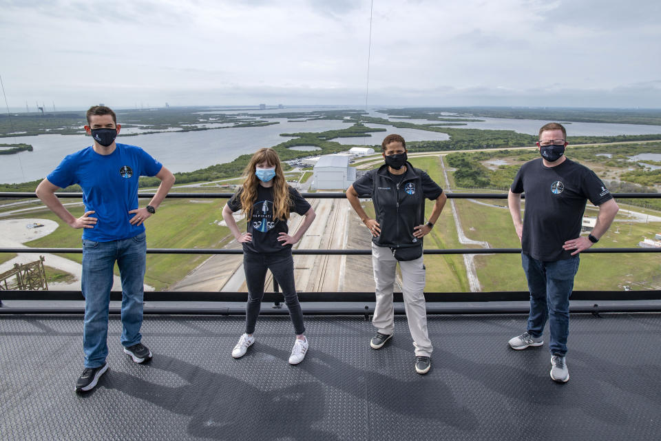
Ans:
{"type": "MultiPolygon", "coordinates": [[[[374,0],[370,105],[661,107],[658,0],[374,0]]],[[[364,105],[370,0],[0,0],[12,109],[364,105]]]]}

